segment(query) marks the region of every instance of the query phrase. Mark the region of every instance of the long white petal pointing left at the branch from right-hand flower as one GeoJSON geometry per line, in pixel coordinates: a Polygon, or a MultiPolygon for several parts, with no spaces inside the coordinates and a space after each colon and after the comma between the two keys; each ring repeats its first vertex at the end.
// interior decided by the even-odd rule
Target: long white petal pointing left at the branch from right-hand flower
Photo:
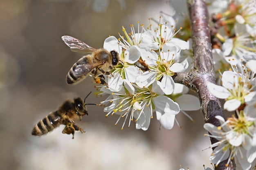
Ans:
{"type": "Polygon", "coordinates": [[[216,97],[220,98],[220,99],[226,99],[227,97],[229,97],[230,93],[229,91],[222,87],[222,86],[218,86],[216,84],[213,84],[211,82],[207,83],[207,88],[208,90],[216,97]]]}

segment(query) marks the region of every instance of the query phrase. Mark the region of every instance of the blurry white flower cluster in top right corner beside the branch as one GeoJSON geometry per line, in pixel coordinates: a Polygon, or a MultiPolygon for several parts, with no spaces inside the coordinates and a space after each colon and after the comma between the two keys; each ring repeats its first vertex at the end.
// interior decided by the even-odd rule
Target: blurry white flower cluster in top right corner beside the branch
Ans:
{"type": "Polygon", "coordinates": [[[222,46],[213,46],[213,55],[216,68],[224,70],[229,60],[239,63],[239,59],[245,60],[245,55],[256,52],[256,0],[232,0],[222,6],[218,16],[224,29],[219,29],[216,37],[222,46]]]}

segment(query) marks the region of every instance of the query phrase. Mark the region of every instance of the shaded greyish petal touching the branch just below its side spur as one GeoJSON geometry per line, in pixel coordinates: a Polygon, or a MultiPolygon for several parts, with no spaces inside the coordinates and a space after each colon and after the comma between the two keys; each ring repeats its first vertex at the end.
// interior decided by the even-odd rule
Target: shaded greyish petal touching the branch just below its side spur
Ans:
{"type": "Polygon", "coordinates": [[[189,94],[181,95],[175,102],[179,104],[180,110],[185,111],[199,110],[201,107],[198,97],[189,94]]]}

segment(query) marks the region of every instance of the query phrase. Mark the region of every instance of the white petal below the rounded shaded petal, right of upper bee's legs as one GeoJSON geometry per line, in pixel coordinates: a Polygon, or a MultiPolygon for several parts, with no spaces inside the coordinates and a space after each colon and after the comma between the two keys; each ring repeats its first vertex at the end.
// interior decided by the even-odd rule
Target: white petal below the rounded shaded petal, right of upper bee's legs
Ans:
{"type": "Polygon", "coordinates": [[[137,77],[139,77],[143,71],[141,71],[137,66],[125,66],[124,73],[125,78],[128,79],[129,82],[135,83],[137,77]]]}

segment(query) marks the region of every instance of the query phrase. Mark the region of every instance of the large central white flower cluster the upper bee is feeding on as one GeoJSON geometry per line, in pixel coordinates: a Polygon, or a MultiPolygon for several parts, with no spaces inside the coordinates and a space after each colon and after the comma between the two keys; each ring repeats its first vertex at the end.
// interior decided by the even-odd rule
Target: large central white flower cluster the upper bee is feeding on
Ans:
{"type": "MultiPolygon", "coordinates": [[[[105,40],[103,47],[117,51],[120,57],[120,63],[106,78],[108,86],[103,86],[97,93],[109,95],[100,104],[106,106],[106,116],[120,115],[117,122],[125,117],[124,124],[128,118],[128,127],[135,118],[136,128],[147,130],[155,112],[162,127],[173,128],[175,115],[182,109],[175,99],[179,100],[188,90],[184,85],[175,84],[172,76],[188,68],[186,60],[181,63],[176,61],[189,44],[174,38],[177,31],[174,28],[175,20],[172,21],[159,22],[156,29],[152,29],[150,24],[147,30],[138,22],[137,33],[130,25],[130,33],[124,27],[122,29],[125,37],[119,34],[118,39],[110,36],[105,40]]],[[[200,108],[197,97],[186,95],[185,101],[188,100],[193,102],[186,103],[183,111],[200,108]]],[[[182,100],[179,103],[182,104],[182,100]]]]}

